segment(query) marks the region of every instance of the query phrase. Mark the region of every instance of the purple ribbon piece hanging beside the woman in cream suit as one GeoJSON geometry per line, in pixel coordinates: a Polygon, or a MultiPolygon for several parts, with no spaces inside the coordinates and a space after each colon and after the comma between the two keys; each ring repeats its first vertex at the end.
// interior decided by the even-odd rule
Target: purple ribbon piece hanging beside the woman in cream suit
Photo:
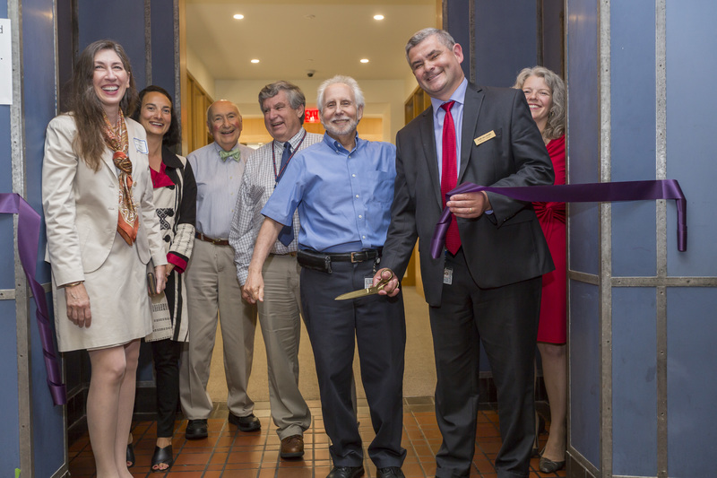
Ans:
{"type": "Polygon", "coordinates": [[[39,338],[45,357],[48,387],[50,395],[52,395],[52,402],[56,405],[64,405],[67,403],[67,394],[65,384],[62,383],[60,361],[57,359],[52,327],[48,319],[48,302],[45,300],[45,290],[35,280],[35,265],[38,261],[39,214],[20,195],[9,193],[0,194],[0,213],[18,215],[17,248],[22,269],[30,284],[32,299],[35,300],[37,309],[35,315],[38,318],[39,338]]]}

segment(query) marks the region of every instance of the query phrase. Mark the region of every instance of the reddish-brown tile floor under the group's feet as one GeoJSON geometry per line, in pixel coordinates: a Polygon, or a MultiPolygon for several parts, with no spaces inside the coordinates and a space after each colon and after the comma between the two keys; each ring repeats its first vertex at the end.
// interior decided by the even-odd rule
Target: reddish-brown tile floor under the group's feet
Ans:
{"type": "MultiPolygon", "coordinates": [[[[136,464],[130,469],[135,477],[180,478],[324,478],[331,471],[328,437],[324,433],[324,420],[318,401],[309,403],[313,422],[304,433],[305,455],[303,459],[281,460],[280,440],[270,418],[269,404],[256,404],[255,415],[262,421],[262,430],[251,433],[238,431],[227,422],[226,404],[220,404],[209,419],[209,438],[186,440],[186,420],[177,421],[172,443],[175,463],[168,473],[151,473],[151,454],[155,445],[156,422],[134,422],[134,452],[136,464]]],[[[403,463],[406,478],[434,476],[435,453],[441,444],[441,434],[436,424],[432,399],[408,398],[403,408],[402,446],[408,451],[403,463]]],[[[359,400],[358,420],[361,436],[366,447],[373,438],[366,401],[359,400]]],[[[485,410],[478,417],[478,438],[473,458],[471,477],[496,477],[493,459],[500,448],[498,418],[494,410],[485,410]]],[[[540,436],[541,445],[547,435],[540,436]]],[[[366,476],[376,476],[376,466],[366,459],[366,476]]],[[[73,478],[94,477],[94,460],[87,435],[70,447],[70,474],[73,478]]],[[[557,474],[541,474],[538,458],[531,459],[531,478],[543,476],[566,476],[565,469],[557,474]]]]}

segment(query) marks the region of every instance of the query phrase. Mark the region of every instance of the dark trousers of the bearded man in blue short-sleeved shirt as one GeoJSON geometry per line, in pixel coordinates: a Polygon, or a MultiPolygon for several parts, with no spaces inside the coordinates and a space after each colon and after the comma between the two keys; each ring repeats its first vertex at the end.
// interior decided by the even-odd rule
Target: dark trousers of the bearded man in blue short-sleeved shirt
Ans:
{"type": "Polygon", "coordinates": [[[358,343],[361,380],[376,438],[368,456],[376,467],[401,466],[403,363],[406,322],[401,295],[334,300],[364,288],[373,261],[332,263],[332,274],[302,268],[301,304],[314,349],[324,429],[335,466],[363,464],[361,437],[351,404],[353,356],[358,343]]]}

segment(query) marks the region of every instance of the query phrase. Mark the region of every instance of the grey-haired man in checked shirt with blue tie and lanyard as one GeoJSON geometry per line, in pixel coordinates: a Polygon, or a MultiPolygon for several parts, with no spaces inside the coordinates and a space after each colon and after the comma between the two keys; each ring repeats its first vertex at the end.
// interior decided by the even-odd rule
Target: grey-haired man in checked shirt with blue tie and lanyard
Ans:
{"type": "MultiPolygon", "coordinates": [[[[307,133],[302,126],[306,99],[298,86],[288,82],[267,84],[259,92],[259,105],[264,126],[273,140],[249,157],[229,231],[229,243],[235,251],[238,280],[242,285],[246,282],[255,239],[262,226],[263,205],[272,196],[294,154],[323,137],[307,133]]],[[[282,230],[263,265],[266,299],[258,304],[269,366],[269,400],[281,439],[282,458],[304,455],[304,430],[311,425],[311,413],[298,390],[301,332],[298,230],[298,213],[295,213],[294,222],[282,230]]]]}

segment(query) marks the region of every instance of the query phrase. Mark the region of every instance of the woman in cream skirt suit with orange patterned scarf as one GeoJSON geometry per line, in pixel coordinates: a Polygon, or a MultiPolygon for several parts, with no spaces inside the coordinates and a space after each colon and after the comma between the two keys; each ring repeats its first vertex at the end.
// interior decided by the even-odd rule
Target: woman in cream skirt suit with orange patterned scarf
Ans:
{"type": "Polygon", "coordinates": [[[129,478],[137,358],[151,333],[147,263],[159,293],[167,258],[144,129],[128,117],[137,92],[124,49],[110,40],[85,48],[70,96],[71,112],[48,125],[42,165],[57,343],[90,354],[87,423],[98,478],[129,478]]]}

